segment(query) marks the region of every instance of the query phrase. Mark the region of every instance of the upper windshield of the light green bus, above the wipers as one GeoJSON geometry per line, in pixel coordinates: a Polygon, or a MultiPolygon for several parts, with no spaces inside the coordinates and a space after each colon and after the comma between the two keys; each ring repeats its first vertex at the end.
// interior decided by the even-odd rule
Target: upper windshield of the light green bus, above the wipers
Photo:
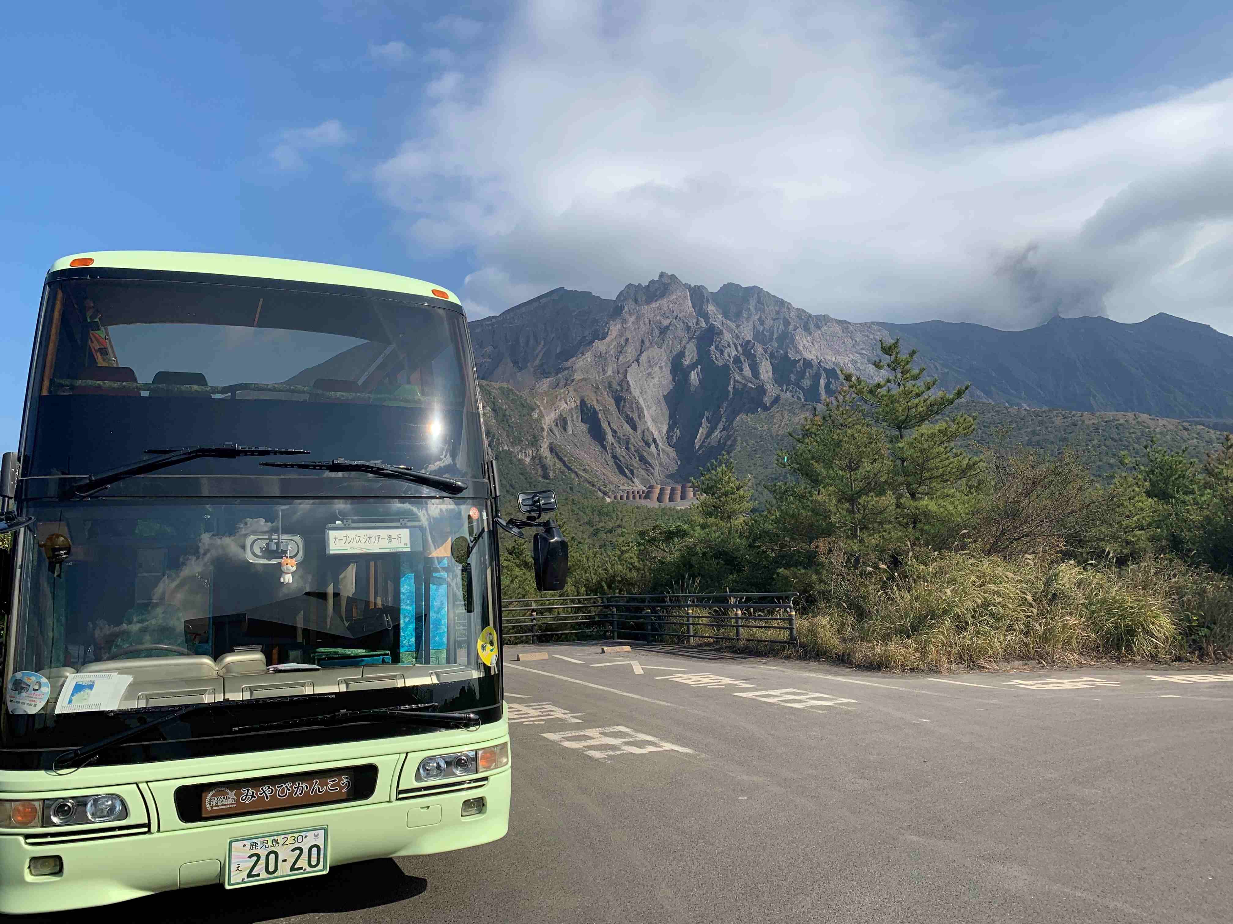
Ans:
{"type": "MultiPolygon", "coordinates": [[[[219,444],[308,447],[313,460],[483,477],[459,312],[391,292],[165,274],[59,278],[46,299],[27,414],[27,496],[57,496],[60,478],[141,461],[149,450],[219,444]]],[[[201,482],[292,474],[259,462],[195,460],[107,495],[268,494],[253,478],[223,490],[201,482]],[[179,479],[174,490],[168,479],[179,479]]],[[[356,490],[369,489],[337,493],[356,490]]]]}

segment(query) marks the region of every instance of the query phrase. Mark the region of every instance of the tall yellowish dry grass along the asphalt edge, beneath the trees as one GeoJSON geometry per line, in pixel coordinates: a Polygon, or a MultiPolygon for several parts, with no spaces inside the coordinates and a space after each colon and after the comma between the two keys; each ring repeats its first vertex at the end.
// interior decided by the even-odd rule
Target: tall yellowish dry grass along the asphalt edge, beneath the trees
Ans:
{"type": "Polygon", "coordinates": [[[1233,580],[1170,562],[1127,568],[932,554],[899,574],[825,567],[798,621],[806,654],[889,670],[1011,660],[1226,658],[1233,580]]]}

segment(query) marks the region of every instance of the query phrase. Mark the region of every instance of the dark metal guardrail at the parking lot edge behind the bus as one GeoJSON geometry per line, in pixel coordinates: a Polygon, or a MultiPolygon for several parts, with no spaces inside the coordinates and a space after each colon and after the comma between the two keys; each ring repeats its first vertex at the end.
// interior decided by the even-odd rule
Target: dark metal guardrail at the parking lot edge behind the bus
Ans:
{"type": "Polygon", "coordinates": [[[797,594],[621,594],[502,601],[510,644],[587,638],[797,643],[797,594]]]}

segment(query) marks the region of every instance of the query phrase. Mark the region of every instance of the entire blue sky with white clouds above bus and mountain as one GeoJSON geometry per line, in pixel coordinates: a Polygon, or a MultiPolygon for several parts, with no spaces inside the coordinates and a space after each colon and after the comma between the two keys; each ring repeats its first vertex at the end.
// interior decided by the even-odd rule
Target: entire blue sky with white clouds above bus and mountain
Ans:
{"type": "Polygon", "coordinates": [[[1143,218],[1233,176],[1228,4],[757,6],[12,5],[5,446],[42,275],[91,249],[387,270],[481,313],[668,270],[853,319],[1233,333],[1233,206],[1143,218]]]}

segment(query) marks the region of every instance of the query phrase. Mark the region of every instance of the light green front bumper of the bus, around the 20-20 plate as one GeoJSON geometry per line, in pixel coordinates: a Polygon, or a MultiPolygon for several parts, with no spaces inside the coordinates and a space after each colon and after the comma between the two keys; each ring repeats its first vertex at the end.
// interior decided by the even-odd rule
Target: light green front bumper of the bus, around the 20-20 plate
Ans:
{"type": "Polygon", "coordinates": [[[462,792],[324,812],[280,813],[276,819],[250,817],[105,843],[27,844],[22,837],[4,835],[0,837],[0,914],[70,910],[221,883],[228,841],[276,832],[326,827],[330,869],[360,860],[439,854],[487,844],[504,837],[509,828],[509,779],[507,770],[492,774],[482,788],[462,792]],[[485,812],[464,818],[462,802],[475,796],[485,797],[485,812]],[[435,806],[440,807],[439,816],[435,806]],[[59,856],[62,872],[31,875],[30,861],[36,856],[59,856]]]}

